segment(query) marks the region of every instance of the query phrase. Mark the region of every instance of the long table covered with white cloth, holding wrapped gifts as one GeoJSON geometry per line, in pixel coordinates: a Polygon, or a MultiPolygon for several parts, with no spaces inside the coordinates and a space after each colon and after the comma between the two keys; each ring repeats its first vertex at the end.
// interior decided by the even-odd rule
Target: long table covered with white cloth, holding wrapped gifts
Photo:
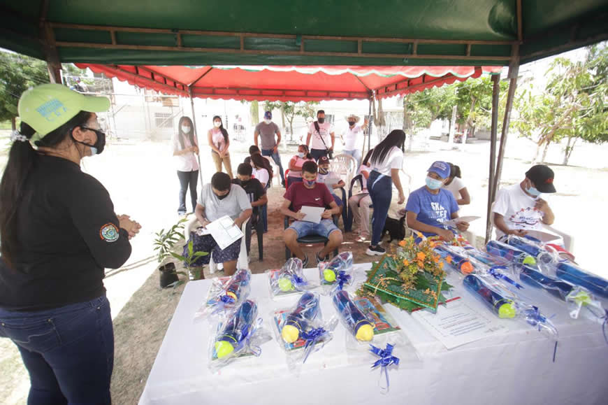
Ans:
{"type": "MultiPolygon", "coordinates": [[[[355,284],[365,278],[370,264],[356,265],[355,284]]],[[[307,269],[318,280],[317,269],[307,269]]],[[[449,273],[456,295],[469,294],[449,273]]],[[[543,313],[558,328],[559,346],[525,322],[501,320],[509,331],[465,346],[446,350],[412,316],[391,305],[387,311],[398,321],[419,351],[422,362],[389,369],[391,389],[379,391],[379,369],[348,364],[346,331],[339,324],[334,338],[313,353],[300,376],[287,367],[277,341],[261,346],[261,357],[230,364],[220,374],[208,369],[208,342],[212,327],[193,322],[207,296],[211,280],[187,284],[175,310],[139,404],[606,404],[608,345],[600,325],[572,320],[565,304],[539,290],[526,288],[543,313]]],[[[353,287],[350,288],[352,290],[353,287]]],[[[252,277],[252,293],[259,315],[270,329],[270,313],[295,304],[297,296],[273,301],[266,274],[252,277]]],[[[331,299],[321,297],[325,318],[334,315],[331,299]]],[[[399,357],[398,348],[393,353],[399,357]]]]}

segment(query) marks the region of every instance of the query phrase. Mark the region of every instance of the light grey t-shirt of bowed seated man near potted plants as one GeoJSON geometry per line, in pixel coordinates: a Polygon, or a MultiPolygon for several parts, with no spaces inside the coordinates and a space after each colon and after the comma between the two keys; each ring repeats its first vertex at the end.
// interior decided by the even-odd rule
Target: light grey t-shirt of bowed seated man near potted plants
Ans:
{"type": "Polygon", "coordinates": [[[203,185],[201,194],[198,195],[198,204],[205,207],[205,217],[210,221],[219,220],[224,215],[236,220],[243,211],[251,208],[247,193],[236,184],[231,185],[230,192],[223,199],[217,198],[211,189],[211,183],[203,185]]]}

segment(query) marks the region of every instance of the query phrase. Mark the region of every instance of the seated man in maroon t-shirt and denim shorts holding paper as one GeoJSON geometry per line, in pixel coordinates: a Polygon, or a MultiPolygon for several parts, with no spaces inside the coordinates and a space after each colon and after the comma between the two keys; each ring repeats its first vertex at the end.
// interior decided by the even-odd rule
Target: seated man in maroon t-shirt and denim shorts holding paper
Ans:
{"type": "Polygon", "coordinates": [[[317,263],[323,261],[328,253],[338,248],[342,243],[342,231],[331,220],[332,215],[340,213],[340,207],[335,204],[327,186],[317,183],[317,164],[305,162],[302,165],[302,182],[290,185],[283,197],[285,201],[283,201],[281,207],[282,214],[296,220],[283,232],[285,245],[302,260],[304,267],[306,267],[308,257],[300,248],[298,238],[307,235],[323,236],[328,239],[328,242],[317,253],[317,263]],[[304,221],[305,214],[301,212],[303,206],[326,208],[321,214],[321,222],[317,224],[304,221]],[[329,209],[327,209],[328,206],[329,209]]]}

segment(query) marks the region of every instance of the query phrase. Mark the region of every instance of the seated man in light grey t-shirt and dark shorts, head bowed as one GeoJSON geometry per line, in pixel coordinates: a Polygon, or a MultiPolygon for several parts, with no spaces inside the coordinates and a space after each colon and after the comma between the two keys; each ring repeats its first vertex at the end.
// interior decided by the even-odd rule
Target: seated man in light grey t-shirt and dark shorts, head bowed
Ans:
{"type": "MultiPolygon", "coordinates": [[[[234,221],[234,225],[240,228],[252,215],[252,206],[243,187],[231,184],[230,176],[219,171],[212,176],[211,183],[203,185],[194,214],[203,228],[224,215],[228,215],[234,221]]],[[[224,274],[233,275],[240,253],[240,239],[225,249],[220,249],[210,234],[198,235],[192,232],[190,238],[194,238],[195,252],[212,253],[215,263],[224,264],[224,274]]],[[[187,253],[187,249],[184,250],[187,253]]],[[[200,260],[196,260],[196,264],[209,264],[210,258],[210,255],[200,257],[200,260]]]]}

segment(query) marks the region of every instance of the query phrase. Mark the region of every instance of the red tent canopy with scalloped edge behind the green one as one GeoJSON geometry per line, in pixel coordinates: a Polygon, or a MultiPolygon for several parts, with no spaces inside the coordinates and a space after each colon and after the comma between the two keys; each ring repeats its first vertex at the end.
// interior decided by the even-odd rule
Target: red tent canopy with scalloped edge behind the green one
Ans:
{"type": "Polygon", "coordinates": [[[166,94],[212,99],[369,99],[498,73],[500,66],[104,66],[77,64],[166,94]]]}

